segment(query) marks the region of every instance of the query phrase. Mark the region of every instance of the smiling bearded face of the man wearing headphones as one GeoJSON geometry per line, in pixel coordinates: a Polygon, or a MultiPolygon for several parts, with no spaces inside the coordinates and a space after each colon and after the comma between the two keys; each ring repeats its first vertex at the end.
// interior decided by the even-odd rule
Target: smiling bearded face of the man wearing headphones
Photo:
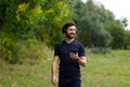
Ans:
{"type": "Polygon", "coordinates": [[[66,30],[66,36],[69,39],[73,39],[76,34],[76,26],[69,26],[66,30]]]}

